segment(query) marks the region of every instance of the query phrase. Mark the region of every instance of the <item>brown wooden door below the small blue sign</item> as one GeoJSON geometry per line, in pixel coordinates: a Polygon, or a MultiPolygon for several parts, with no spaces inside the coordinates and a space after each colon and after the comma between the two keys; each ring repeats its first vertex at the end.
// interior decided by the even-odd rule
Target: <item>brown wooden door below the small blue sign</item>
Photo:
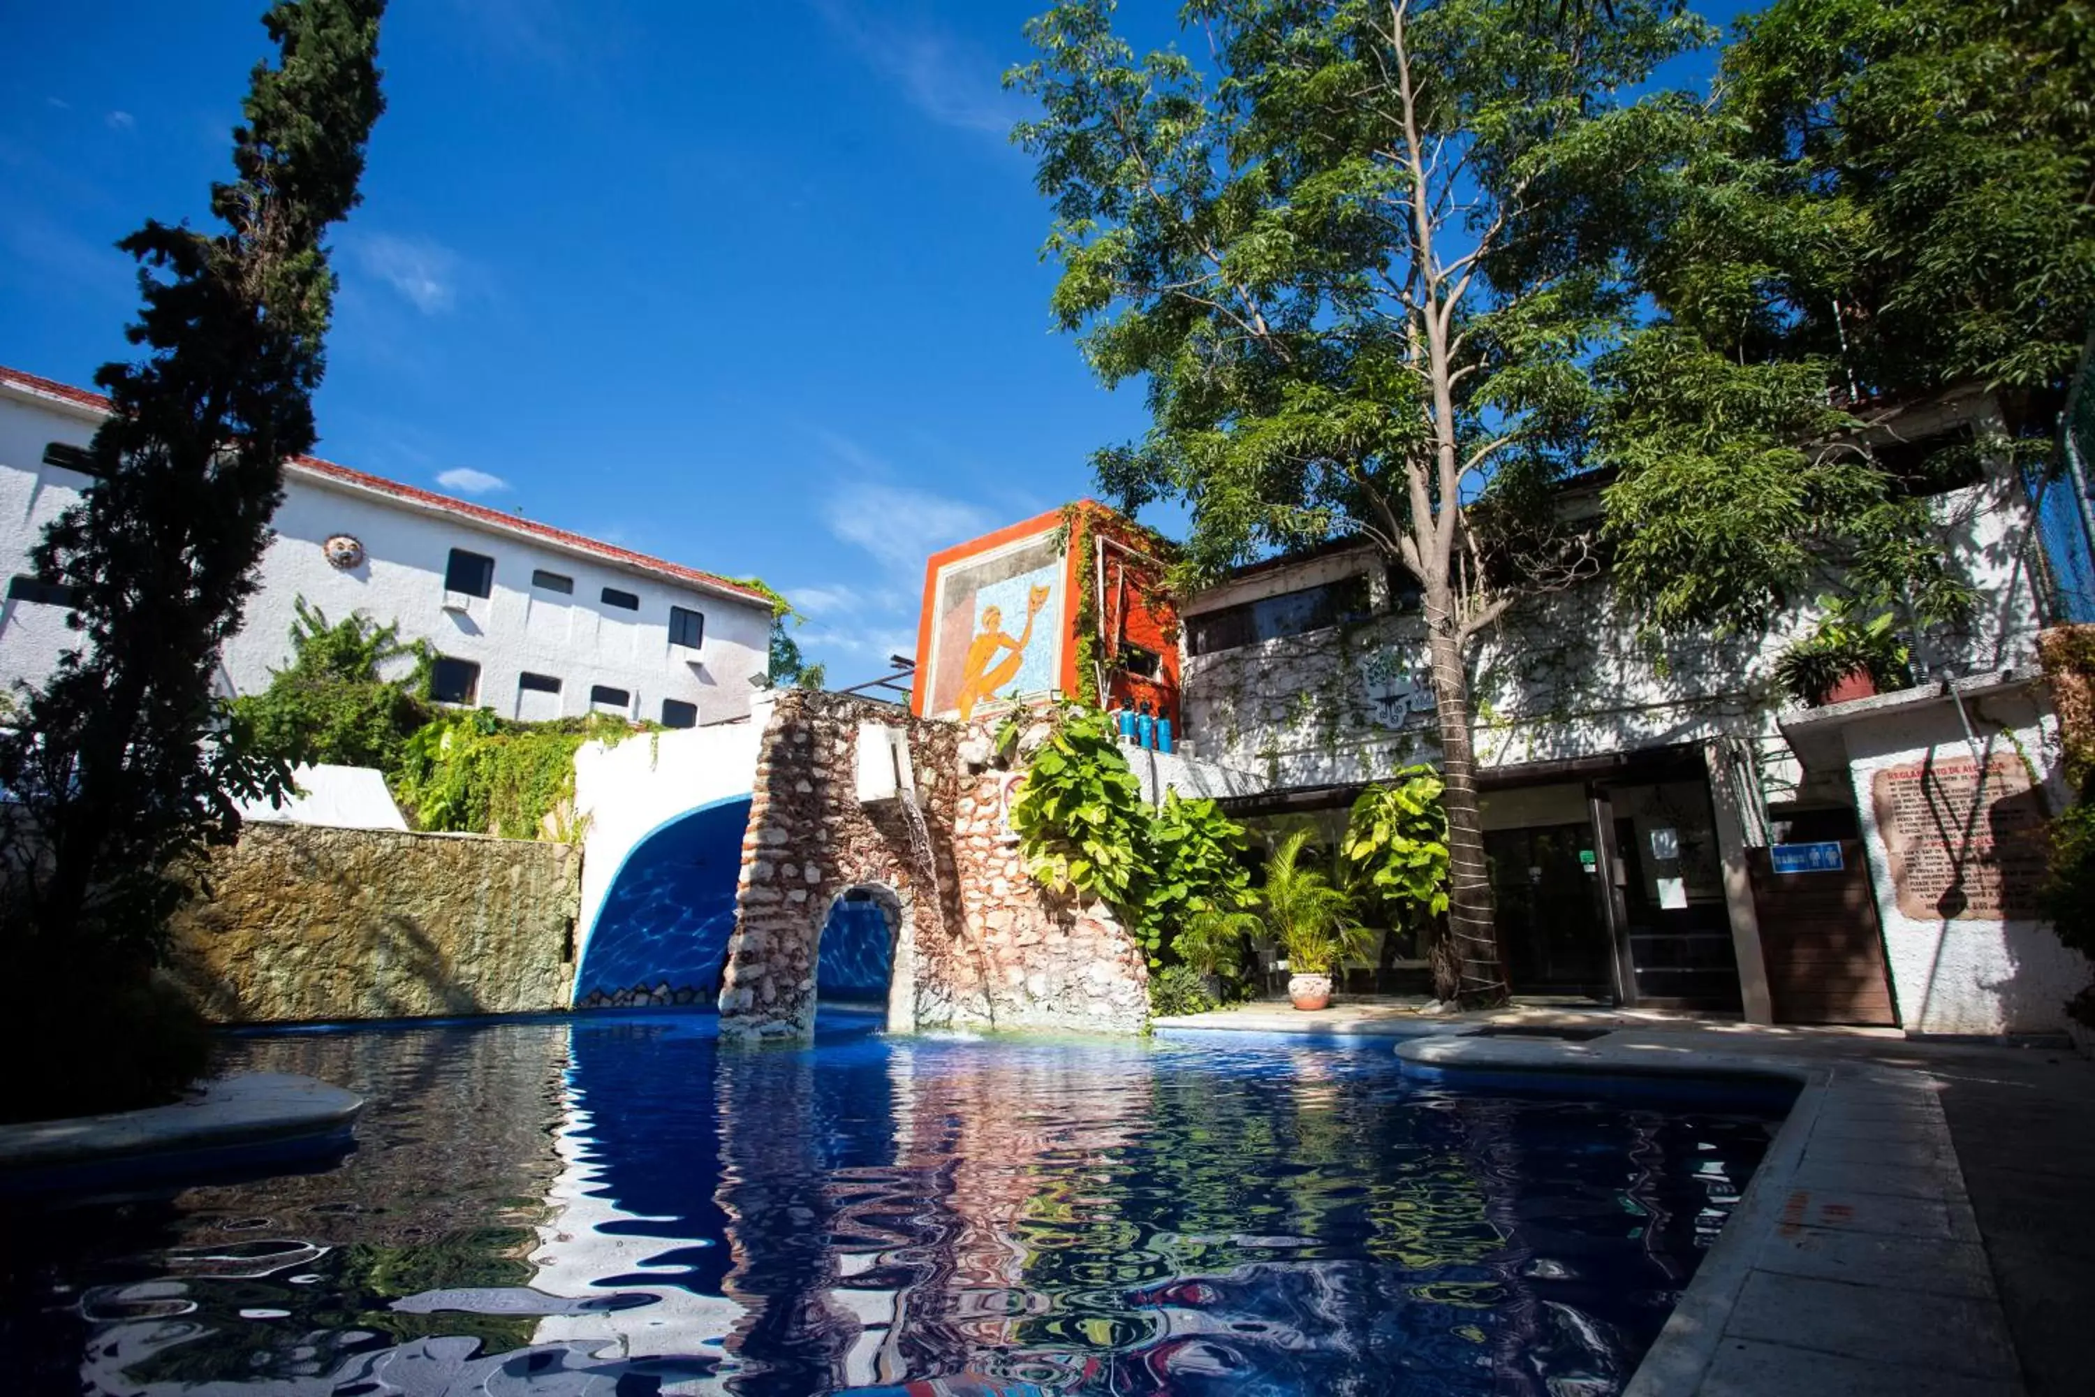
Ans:
{"type": "Polygon", "coordinates": [[[1860,840],[1839,840],[1842,869],[1777,873],[1749,848],[1760,951],[1779,1024],[1896,1026],[1877,899],[1860,840]]]}

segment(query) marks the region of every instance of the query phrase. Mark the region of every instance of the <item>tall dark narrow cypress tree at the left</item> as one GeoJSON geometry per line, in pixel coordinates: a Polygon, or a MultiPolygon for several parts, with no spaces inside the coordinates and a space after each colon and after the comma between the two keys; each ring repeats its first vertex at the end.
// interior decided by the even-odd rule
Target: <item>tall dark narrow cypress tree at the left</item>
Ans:
{"type": "Polygon", "coordinates": [[[283,461],[314,442],[335,276],[321,239],[358,201],[385,103],[383,0],[285,0],[262,19],[233,132],[224,226],[147,222],[138,362],[94,381],[113,411],[94,484],[44,532],[38,576],[73,589],[67,653],[0,733],[0,928],[10,963],[75,982],[136,982],[163,949],[182,855],[239,827],[237,800],[285,771],[247,756],[214,697],[283,496],[283,461]]]}

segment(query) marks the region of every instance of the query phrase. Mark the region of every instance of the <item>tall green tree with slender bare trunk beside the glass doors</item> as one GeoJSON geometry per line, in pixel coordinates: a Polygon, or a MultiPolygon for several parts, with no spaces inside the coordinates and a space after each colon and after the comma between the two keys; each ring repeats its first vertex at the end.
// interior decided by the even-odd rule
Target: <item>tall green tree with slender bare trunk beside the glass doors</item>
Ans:
{"type": "Polygon", "coordinates": [[[1190,580],[1335,534],[1418,580],[1460,968],[1439,989],[1502,997],[1473,639],[1592,568],[1550,486],[1636,308],[1640,184],[1689,119],[1622,94],[1705,27],[1672,0],[1194,0],[1207,75],[1138,59],[1112,10],[1035,19],[1008,77],[1043,107],[1018,138],[1054,201],[1054,316],[1148,390],[1102,488],[1190,507],[1190,580]]]}

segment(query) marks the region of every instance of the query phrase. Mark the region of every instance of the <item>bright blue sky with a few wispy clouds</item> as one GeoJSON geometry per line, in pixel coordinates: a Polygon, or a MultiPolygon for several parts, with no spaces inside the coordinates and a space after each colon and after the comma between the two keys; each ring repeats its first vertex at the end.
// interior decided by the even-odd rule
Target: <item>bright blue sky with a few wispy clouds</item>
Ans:
{"type": "MultiPolygon", "coordinates": [[[[262,8],[8,17],[0,362],[126,352],[113,243],[203,216],[262,8]]],[[[1050,331],[997,84],[1039,8],[392,0],[318,454],[763,576],[832,683],[884,670],[930,551],[1091,492],[1144,425],[1050,331]]]]}

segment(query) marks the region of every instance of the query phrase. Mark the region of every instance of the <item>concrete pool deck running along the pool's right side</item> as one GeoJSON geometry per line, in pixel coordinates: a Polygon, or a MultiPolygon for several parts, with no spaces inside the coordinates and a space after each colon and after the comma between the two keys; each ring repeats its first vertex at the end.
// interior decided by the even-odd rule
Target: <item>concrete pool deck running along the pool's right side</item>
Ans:
{"type": "Polygon", "coordinates": [[[2095,1064],[2066,1047],[1523,1005],[1242,1005],[1161,1030],[1395,1039],[1410,1070],[1751,1074],[1791,1114],[1628,1397],[2089,1391],[2095,1064]],[[1605,1028],[1584,1041],[1475,1028],[1605,1028]]]}

